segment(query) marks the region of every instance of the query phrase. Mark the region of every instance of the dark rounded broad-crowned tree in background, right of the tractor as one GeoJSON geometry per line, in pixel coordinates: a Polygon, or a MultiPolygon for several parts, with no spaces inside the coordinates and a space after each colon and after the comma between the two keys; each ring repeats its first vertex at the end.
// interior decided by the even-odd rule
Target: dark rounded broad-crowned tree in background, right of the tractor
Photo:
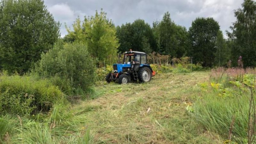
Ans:
{"type": "Polygon", "coordinates": [[[213,18],[196,18],[189,28],[191,48],[188,55],[204,67],[212,67],[217,51],[216,40],[220,26],[213,18]]]}

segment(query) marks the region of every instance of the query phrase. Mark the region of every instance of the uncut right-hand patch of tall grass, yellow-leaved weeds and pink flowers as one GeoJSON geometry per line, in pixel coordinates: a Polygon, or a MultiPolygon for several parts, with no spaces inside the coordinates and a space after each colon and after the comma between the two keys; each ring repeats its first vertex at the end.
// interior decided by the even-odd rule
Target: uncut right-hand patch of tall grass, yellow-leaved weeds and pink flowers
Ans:
{"type": "Polygon", "coordinates": [[[246,143],[249,99],[251,94],[255,96],[249,88],[255,86],[253,73],[251,68],[212,70],[212,87],[193,106],[192,116],[197,126],[225,139],[246,143]]]}

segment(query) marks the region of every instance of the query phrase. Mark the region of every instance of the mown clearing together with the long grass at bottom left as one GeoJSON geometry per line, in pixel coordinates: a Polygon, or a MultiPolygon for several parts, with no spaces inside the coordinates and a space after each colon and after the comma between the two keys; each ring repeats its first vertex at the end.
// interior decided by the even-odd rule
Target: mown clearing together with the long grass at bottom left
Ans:
{"type": "Polygon", "coordinates": [[[222,143],[186,110],[208,80],[209,72],[192,72],[159,74],[145,84],[99,82],[87,99],[21,117],[22,126],[17,116],[4,118],[16,123],[5,143],[222,143]]]}

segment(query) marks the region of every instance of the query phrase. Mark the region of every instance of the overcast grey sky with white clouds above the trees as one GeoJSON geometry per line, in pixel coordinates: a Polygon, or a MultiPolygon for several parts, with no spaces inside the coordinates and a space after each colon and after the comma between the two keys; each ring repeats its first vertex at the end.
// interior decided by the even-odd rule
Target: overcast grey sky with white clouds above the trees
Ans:
{"type": "MultiPolygon", "coordinates": [[[[234,10],[241,7],[244,0],[44,0],[47,9],[56,21],[61,23],[61,36],[67,31],[64,23],[72,27],[79,16],[91,16],[95,10],[103,8],[108,19],[115,25],[144,19],[152,26],[153,21],[161,20],[164,12],[171,13],[171,19],[187,29],[196,17],[213,17],[219,22],[224,35],[225,30],[236,20],[234,10]]],[[[225,36],[226,37],[226,36],[225,36]]]]}

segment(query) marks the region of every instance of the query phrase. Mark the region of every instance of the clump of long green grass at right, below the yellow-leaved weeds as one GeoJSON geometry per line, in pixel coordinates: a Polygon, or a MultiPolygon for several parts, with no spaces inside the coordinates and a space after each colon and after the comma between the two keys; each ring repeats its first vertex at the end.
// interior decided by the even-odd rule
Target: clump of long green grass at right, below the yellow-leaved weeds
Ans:
{"type": "MultiPolygon", "coordinates": [[[[196,101],[194,120],[199,127],[228,138],[232,118],[235,117],[232,134],[246,139],[248,121],[248,95],[221,98],[218,93],[206,94],[196,101]]],[[[240,140],[239,140],[240,141],[240,140]]]]}

